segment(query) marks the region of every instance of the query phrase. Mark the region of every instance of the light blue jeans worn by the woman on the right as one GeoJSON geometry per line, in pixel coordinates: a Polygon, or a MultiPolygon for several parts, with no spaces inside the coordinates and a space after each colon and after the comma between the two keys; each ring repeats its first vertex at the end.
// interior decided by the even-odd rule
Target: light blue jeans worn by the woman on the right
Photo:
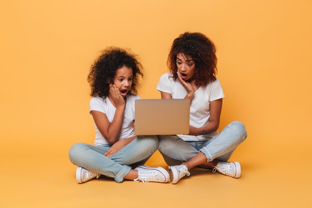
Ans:
{"type": "Polygon", "coordinates": [[[217,136],[208,141],[184,141],[176,135],[158,135],[158,150],[168,165],[180,165],[199,152],[205,154],[207,162],[214,159],[228,161],[233,151],[242,143],[247,132],[245,126],[234,121],[217,136]]]}

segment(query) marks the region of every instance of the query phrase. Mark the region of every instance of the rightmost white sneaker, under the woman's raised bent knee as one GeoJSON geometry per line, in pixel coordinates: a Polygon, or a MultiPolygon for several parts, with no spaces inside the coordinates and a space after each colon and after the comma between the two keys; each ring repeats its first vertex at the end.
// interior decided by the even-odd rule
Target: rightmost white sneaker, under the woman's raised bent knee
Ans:
{"type": "Polygon", "coordinates": [[[241,165],[239,162],[218,162],[217,166],[214,166],[212,172],[215,173],[216,171],[237,179],[241,176],[241,165]]]}

